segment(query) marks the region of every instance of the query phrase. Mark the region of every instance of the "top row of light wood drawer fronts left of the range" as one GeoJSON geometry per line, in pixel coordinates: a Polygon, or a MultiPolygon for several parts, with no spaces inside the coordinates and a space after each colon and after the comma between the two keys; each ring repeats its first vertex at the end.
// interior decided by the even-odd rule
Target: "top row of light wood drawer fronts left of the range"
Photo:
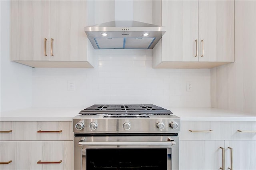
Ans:
{"type": "Polygon", "coordinates": [[[73,140],[72,121],[2,121],[0,140],[73,140]]]}

